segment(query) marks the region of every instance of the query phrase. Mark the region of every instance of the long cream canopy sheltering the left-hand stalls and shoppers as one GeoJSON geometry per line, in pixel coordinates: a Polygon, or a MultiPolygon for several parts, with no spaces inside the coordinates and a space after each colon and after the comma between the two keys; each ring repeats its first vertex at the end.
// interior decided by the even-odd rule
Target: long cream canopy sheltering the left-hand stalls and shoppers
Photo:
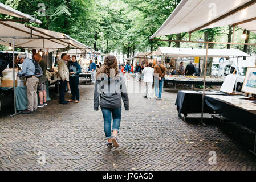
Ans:
{"type": "Polygon", "coordinates": [[[0,44],[9,46],[13,44],[15,37],[15,47],[35,48],[35,49],[63,49],[74,47],[78,49],[92,49],[66,34],[43,28],[27,26],[15,22],[0,22],[0,44]]]}

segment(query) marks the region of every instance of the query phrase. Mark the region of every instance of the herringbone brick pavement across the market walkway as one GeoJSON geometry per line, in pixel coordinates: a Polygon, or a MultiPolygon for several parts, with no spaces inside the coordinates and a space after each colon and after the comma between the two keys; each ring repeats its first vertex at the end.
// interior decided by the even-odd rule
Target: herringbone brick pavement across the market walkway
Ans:
{"type": "Polygon", "coordinates": [[[208,127],[193,118],[184,123],[174,106],[177,93],[166,91],[162,101],[129,94],[130,110],[123,108],[120,147],[107,148],[101,111],[92,107],[93,91],[94,86],[80,85],[79,104],[59,105],[55,97],[36,113],[1,117],[0,170],[256,169],[256,157],[243,145],[248,140],[251,147],[254,135],[239,142],[247,136],[245,129],[233,126],[235,134],[241,134],[235,137],[232,126],[224,127],[209,115],[208,127]],[[217,154],[216,165],[208,162],[210,151],[217,154]]]}

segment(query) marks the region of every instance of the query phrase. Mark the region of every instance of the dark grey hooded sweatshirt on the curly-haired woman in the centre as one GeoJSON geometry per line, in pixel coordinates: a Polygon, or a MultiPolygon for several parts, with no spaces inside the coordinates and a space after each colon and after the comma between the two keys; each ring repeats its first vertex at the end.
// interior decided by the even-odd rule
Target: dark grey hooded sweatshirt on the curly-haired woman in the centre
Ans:
{"type": "Polygon", "coordinates": [[[117,109],[122,106],[123,99],[125,110],[129,110],[129,98],[123,77],[116,80],[103,77],[97,80],[94,90],[94,110],[99,110],[99,97],[100,107],[117,109]]]}

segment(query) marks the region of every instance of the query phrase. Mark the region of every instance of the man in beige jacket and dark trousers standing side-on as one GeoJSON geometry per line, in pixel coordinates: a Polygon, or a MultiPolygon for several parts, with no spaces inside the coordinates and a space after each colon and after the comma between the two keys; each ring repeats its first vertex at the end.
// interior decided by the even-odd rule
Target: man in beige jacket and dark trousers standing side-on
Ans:
{"type": "Polygon", "coordinates": [[[69,70],[67,67],[67,61],[70,56],[66,53],[61,55],[61,59],[58,64],[58,80],[60,82],[59,88],[59,103],[60,104],[68,104],[68,101],[65,101],[65,92],[67,89],[67,82],[70,81],[69,70]]]}

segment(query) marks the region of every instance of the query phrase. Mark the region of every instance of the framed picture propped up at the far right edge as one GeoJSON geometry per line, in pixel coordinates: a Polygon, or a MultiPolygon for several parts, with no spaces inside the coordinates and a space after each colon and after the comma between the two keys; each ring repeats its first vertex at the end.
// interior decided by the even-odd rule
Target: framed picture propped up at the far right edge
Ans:
{"type": "Polygon", "coordinates": [[[245,81],[243,82],[242,92],[256,94],[256,67],[247,69],[245,81]]]}

